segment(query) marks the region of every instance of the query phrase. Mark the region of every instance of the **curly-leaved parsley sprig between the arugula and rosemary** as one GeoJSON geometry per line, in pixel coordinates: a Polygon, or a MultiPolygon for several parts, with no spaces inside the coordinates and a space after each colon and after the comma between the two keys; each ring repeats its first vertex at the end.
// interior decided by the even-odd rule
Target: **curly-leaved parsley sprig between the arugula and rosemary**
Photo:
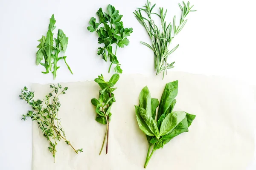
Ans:
{"type": "Polygon", "coordinates": [[[96,18],[91,17],[90,25],[87,29],[90,32],[96,31],[99,35],[98,42],[104,46],[99,47],[98,55],[102,55],[102,58],[107,62],[108,58],[111,62],[111,65],[108,69],[108,72],[111,70],[113,64],[116,65],[115,71],[117,73],[122,73],[119,61],[116,57],[117,47],[124,48],[125,45],[129,44],[128,36],[133,32],[132,28],[124,28],[121,21],[122,15],[119,14],[119,11],[115,9],[112,5],[107,7],[108,13],[103,13],[102,8],[96,12],[99,17],[99,23],[96,23],[96,18]],[[103,24],[104,27],[99,26],[103,24]],[[116,44],[115,52],[113,52],[113,44],[116,44]]]}

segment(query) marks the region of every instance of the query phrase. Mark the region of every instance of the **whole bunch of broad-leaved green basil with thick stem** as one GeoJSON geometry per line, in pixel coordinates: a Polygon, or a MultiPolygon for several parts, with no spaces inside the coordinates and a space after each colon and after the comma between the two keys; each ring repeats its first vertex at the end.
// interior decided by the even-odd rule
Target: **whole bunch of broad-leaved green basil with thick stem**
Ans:
{"type": "Polygon", "coordinates": [[[158,99],[151,99],[150,91],[145,86],[140,92],[140,105],[135,105],[137,122],[148,139],[148,154],[146,168],[153,153],[163,148],[175,136],[188,132],[188,127],[195,119],[195,115],[184,111],[173,111],[178,93],[178,81],[167,83],[163,91],[160,104],[158,99]],[[157,107],[158,113],[157,112],[157,107]],[[150,153],[151,152],[151,153],[150,153]]]}

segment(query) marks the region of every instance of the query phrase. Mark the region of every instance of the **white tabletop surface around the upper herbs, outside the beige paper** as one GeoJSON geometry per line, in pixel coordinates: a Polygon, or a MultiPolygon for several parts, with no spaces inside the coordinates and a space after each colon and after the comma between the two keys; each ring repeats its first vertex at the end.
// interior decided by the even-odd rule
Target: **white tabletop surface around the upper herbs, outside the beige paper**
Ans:
{"type": "MultiPolygon", "coordinates": [[[[31,83],[92,80],[107,74],[109,63],[97,56],[96,33],[87,31],[90,17],[110,3],[123,15],[125,27],[134,28],[130,44],[117,50],[124,74],[154,75],[153,54],[140,41],[150,42],[133,11],[146,0],[1,0],[0,1],[0,170],[30,170],[32,163],[32,122],[21,121],[29,109],[18,94],[31,83]],[[74,75],[58,63],[57,79],[42,74],[35,65],[38,39],[46,34],[49,17],[55,14],[57,29],[69,37],[67,62],[74,75]]],[[[180,16],[180,0],[152,0],[168,8],[166,20],[180,16]]],[[[173,40],[180,46],[169,57],[175,68],[197,74],[220,75],[256,85],[255,0],[193,0],[196,12],[188,16],[183,30],[173,40]]],[[[155,8],[157,10],[157,8],[155,8]]],[[[57,32],[55,32],[56,34],[57,32]]],[[[113,72],[112,72],[113,73],[113,72]]],[[[255,170],[256,167],[250,169],[255,170]]]]}

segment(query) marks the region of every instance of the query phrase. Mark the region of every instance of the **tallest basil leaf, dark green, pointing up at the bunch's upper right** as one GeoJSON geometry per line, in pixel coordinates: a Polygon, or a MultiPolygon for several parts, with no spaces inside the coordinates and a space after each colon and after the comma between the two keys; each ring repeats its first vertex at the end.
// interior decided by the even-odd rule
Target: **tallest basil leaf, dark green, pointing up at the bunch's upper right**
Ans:
{"type": "Polygon", "coordinates": [[[177,94],[178,80],[167,83],[160,100],[157,120],[160,118],[160,116],[162,116],[162,114],[165,114],[166,111],[170,108],[170,106],[172,105],[172,101],[175,99],[177,94]]]}

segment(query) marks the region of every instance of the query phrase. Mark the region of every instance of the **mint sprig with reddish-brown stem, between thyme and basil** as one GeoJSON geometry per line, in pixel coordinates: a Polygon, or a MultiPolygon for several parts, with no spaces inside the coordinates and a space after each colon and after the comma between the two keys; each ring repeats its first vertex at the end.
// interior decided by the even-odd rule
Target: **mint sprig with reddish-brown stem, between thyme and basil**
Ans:
{"type": "Polygon", "coordinates": [[[104,80],[103,75],[99,76],[99,78],[94,79],[96,83],[99,84],[99,87],[101,90],[99,91],[99,99],[93,98],[91,100],[92,104],[96,107],[96,121],[103,124],[107,125],[106,127],[106,133],[104,136],[104,140],[102,143],[102,148],[99,152],[99,155],[102,153],[105,141],[107,139],[107,144],[106,144],[106,154],[108,153],[108,133],[109,133],[109,122],[111,121],[111,107],[113,102],[116,102],[115,96],[113,94],[113,91],[116,90],[113,86],[116,84],[116,82],[119,79],[119,74],[113,74],[111,79],[106,82],[104,80]]]}

